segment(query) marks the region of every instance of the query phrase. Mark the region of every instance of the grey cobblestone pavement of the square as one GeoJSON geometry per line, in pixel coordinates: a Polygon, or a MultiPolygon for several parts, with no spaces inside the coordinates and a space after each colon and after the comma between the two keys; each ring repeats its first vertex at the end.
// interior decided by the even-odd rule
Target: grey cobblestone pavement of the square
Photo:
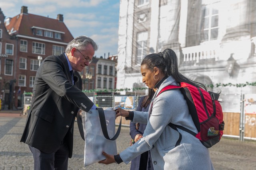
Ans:
{"type": "MultiPolygon", "coordinates": [[[[20,143],[20,137],[26,122],[26,116],[0,114],[0,170],[33,170],[33,156],[28,145],[20,143]]],[[[118,152],[129,147],[129,128],[122,127],[117,139],[118,152]]],[[[255,170],[256,141],[238,141],[222,138],[213,146],[210,156],[216,170],[255,170]]],[[[130,163],[92,164],[84,167],[84,141],[81,139],[77,125],[74,129],[74,150],[69,160],[68,170],[129,170],[130,163]]]]}

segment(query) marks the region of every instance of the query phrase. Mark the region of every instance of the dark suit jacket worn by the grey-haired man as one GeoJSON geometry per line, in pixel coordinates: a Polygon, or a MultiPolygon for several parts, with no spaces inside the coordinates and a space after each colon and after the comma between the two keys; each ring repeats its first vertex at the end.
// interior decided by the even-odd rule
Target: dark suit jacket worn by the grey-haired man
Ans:
{"type": "Polygon", "coordinates": [[[68,61],[63,54],[49,56],[41,63],[34,81],[33,96],[20,142],[51,153],[68,142],[73,151],[73,127],[78,109],[89,111],[93,102],[81,91],[82,78],[74,72],[72,84],[68,61]]]}

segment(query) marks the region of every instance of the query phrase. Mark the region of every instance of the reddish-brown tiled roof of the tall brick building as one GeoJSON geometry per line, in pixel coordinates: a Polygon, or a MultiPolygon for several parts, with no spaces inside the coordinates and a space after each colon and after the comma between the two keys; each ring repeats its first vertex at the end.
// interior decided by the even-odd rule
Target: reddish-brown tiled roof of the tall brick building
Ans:
{"type": "Polygon", "coordinates": [[[47,18],[44,16],[21,13],[11,18],[10,23],[8,25],[5,23],[5,25],[10,35],[25,35],[29,37],[49,39],[64,43],[68,43],[74,39],[63,21],[47,18]],[[34,35],[32,29],[33,27],[40,27],[42,29],[63,32],[64,34],[62,34],[62,39],[34,35]]]}

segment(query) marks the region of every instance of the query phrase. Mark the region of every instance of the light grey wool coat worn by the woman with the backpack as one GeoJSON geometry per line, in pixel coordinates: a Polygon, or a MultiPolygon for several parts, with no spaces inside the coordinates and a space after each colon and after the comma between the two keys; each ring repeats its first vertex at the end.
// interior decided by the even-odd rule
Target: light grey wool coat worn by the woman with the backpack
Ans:
{"type": "Polygon", "coordinates": [[[154,95],[148,112],[134,111],[133,122],[147,123],[143,138],[120,153],[122,160],[128,164],[143,152],[150,150],[155,170],[212,170],[214,169],[209,150],[202,143],[185,131],[180,145],[175,147],[179,133],[168,126],[168,123],[182,125],[198,133],[186,100],[180,90],[169,90],[156,95],[165,86],[177,85],[174,78],[169,76],[160,85],[154,95]]]}

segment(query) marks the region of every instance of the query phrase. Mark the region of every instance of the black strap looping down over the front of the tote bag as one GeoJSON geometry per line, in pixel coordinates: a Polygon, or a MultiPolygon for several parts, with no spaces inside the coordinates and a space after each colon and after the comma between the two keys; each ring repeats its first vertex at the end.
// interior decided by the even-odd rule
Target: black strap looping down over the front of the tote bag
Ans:
{"type": "Polygon", "coordinates": [[[120,123],[119,123],[119,126],[118,126],[118,129],[116,131],[116,134],[114,135],[114,137],[112,137],[110,139],[110,137],[108,136],[108,130],[107,130],[107,125],[106,125],[106,118],[105,118],[105,115],[104,115],[104,110],[102,107],[97,107],[96,108],[99,112],[99,117],[100,117],[100,126],[101,126],[101,130],[102,130],[102,133],[104,135],[104,137],[108,140],[111,140],[111,141],[114,141],[117,139],[117,137],[119,136],[120,134],[120,131],[121,131],[121,125],[122,125],[122,116],[121,116],[121,119],[120,119],[120,123]]]}

